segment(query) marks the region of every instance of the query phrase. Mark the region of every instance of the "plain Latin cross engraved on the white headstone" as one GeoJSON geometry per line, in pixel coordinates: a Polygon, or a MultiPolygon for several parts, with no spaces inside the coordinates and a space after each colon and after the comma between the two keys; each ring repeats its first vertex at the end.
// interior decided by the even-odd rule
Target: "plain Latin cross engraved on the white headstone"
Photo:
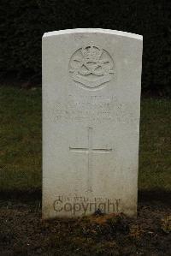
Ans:
{"type": "Polygon", "coordinates": [[[88,191],[92,191],[91,186],[91,172],[92,172],[92,155],[93,153],[109,153],[112,152],[112,148],[93,148],[92,146],[92,129],[91,127],[88,128],[88,147],[70,147],[69,150],[71,152],[80,152],[80,153],[87,153],[88,154],[88,174],[87,174],[87,187],[88,191]]]}

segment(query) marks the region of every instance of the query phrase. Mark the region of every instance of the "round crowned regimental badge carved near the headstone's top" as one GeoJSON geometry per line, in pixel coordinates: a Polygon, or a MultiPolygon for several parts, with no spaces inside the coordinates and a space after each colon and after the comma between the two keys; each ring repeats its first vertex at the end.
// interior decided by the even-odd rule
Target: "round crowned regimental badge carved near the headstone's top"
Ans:
{"type": "Polygon", "coordinates": [[[89,44],[75,51],[69,62],[71,79],[85,89],[98,89],[112,80],[115,65],[109,52],[89,44]]]}

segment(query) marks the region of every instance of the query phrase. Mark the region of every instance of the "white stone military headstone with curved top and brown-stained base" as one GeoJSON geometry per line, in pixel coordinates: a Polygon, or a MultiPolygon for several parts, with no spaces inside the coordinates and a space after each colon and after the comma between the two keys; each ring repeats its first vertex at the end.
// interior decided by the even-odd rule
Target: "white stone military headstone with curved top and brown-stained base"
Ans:
{"type": "Polygon", "coordinates": [[[43,217],[136,215],[142,36],[43,37],[43,217]]]}

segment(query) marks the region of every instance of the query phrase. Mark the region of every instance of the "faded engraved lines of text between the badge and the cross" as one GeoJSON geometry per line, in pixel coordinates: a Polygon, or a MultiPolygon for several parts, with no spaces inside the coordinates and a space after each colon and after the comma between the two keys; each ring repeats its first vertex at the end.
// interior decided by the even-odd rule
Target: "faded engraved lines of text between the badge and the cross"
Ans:
{"type": "Polygon", "coordinates": [[[50,116],[53,121],[59,119],[76,121],[112,121],[115,123],[134,123],[137,118],[132,112],[128,112],[126,104],[120,103],[115,96],[80,96],[76,98],[73,95],[68,96],[68,102],[62,104],[57,100],[55,106],[50,109],[50,116]]]}

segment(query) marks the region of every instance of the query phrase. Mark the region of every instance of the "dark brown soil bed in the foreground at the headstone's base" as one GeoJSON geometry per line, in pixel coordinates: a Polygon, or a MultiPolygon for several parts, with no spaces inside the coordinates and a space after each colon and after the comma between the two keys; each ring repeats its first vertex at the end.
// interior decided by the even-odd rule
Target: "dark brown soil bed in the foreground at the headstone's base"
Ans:
{"type": "Polygon", "coordinates": [[[0,255],[171,255],[171,205],[145,198],[137,218],[43,221],[40,199],[0,197],[0,255]]]}

